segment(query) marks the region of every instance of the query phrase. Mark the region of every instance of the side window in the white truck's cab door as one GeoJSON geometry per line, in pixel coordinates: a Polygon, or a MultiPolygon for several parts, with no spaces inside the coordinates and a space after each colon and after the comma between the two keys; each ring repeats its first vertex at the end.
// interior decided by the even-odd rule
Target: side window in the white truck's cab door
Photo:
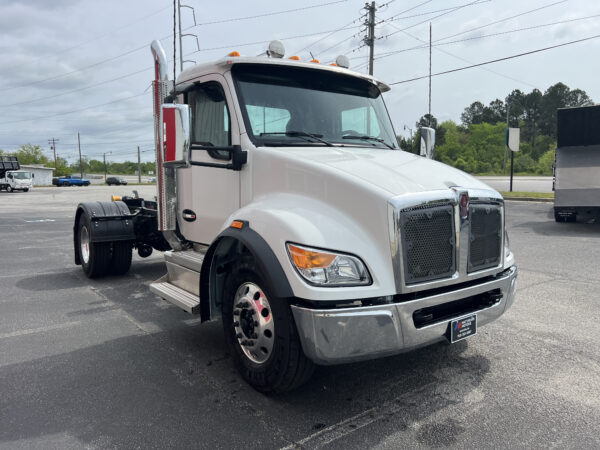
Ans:
{"type": "MultiPolygon", "coordinates": [[[[192,144],[206,147],[231,145],[229,109],[223,88],[217,82],[199,85],[188,93],[192,110],[192,144]]],[[[209,151],[214,158],[229,159],[227,151],[209,151]]]]}

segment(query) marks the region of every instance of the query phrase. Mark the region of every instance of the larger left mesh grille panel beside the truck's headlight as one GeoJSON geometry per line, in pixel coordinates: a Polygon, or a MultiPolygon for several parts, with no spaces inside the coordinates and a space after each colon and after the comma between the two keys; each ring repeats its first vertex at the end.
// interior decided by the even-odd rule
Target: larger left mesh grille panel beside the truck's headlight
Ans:
{"type": "Polygon", "coordinates": [[[452,205],[404,209],[400,227],[406,284],[448,278],[456,272],[452,205]]]}

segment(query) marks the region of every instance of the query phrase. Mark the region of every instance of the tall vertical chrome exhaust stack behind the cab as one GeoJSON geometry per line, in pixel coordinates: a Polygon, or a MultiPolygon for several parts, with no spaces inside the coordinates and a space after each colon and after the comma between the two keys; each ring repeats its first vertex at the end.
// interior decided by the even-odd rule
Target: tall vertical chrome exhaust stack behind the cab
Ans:
{"type": "Polygon", "coordinates": [[[177,229],[177,188],[176,169],[164,166],[164,135],[162,104],[171,90],[175,81],[169,81],[167,75],[167,55],[160,44],[154,40],[150,46],[154,57],[154,81],[152,82],[153,109],[154,109],[154,143],[156,153],[156,188],[157,188],[157,219],[158,229],[173,250],[182,250],[183,245],[179,239],[177,229]]]}

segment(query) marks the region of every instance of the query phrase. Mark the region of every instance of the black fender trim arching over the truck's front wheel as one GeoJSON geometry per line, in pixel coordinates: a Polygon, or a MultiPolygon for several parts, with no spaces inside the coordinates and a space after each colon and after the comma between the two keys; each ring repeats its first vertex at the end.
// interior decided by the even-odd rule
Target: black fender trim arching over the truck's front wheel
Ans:
{"type": "Polygon", "coordinates": [[[226,253],[228,244],[241,242],[250,251],[271,292],[276,297],[290,298],[294,296],[285,272],[269,244],[250,228],[247,221],[240,222],[243,224],[241,229],[226,228],[223,230],[213,241],[204,257],[205,263],[200,272],[200,318],[203,322],[220,315],[220,313],[215,314],[216,311],[213,310],[220,302],[218,302],[219,293],[216,292],[216,287],[213,286],[214,283],[210,283],[210,280],[216,275],[216,267],[213,265],[214,258],[219,253],[226,253]],[[211,292],[212,290],[214,292],[211,292]]]}

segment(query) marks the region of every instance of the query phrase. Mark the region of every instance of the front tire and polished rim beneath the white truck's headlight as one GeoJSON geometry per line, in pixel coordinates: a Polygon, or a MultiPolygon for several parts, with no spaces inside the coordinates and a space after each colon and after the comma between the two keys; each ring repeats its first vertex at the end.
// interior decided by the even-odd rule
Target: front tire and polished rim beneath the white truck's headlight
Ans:
{"type": "Polygon", "coordinates": [[[235,263],[225,281],[223,329],[238,371],[260,392],[290,391],[314,371],[289,304],[271,295],[250,257],[235,263]]]}

